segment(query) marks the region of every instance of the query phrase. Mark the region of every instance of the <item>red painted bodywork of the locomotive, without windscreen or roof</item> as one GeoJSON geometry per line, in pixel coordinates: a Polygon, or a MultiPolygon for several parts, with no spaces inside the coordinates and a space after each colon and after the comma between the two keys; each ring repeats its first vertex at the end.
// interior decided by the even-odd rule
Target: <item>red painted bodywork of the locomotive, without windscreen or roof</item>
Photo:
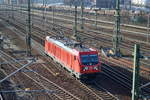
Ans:
{"type": "Polygon", "coordinates": [[[98,54],[96,50],[92,50],[90,52],[80,52],[77,50],[74,51],[75,53],[69,52],[64,48],[60,47],[59,45],[51,41],[45,40],[45,52],[55,57],[61,64],[65,65],[65,67],[69,69],[72,69],[74,72],[78,72],[80,74],[88,74],[88,73],[96,73],[101,71],[100,62],[97,65],[94,65],[94,66],[99,66],[99,70],[94,70],[92,69],[93,66],[88,66],[89,68],[91,68],[91,70],[88,71],[83,71],[83,67],[85,67],[85,65],[81,65],[80,63],[81,54],[98,54]]]}

